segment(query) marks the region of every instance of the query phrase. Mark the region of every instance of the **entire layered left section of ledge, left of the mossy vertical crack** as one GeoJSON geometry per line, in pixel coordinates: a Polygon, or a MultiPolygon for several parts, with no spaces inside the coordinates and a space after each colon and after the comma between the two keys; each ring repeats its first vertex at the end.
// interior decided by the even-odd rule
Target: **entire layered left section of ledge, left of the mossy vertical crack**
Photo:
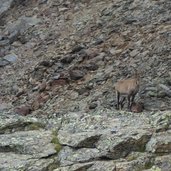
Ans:
{"type": "Polygon", "coordinates": [[[0,170],[52,170],[58,161],[52,131],[43,121],[18,115],[0,115],[0,170]],[[53,143],[52,143],[53,142],[53,143]]]}

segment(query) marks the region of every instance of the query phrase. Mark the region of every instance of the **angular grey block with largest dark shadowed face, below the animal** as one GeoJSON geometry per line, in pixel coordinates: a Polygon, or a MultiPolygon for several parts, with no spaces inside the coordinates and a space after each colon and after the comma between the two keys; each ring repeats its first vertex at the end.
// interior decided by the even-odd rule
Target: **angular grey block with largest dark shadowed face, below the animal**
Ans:
{"type": "Polygon", "coordinates": [[[135,129],[131,128],[128,131],[127,128],[116,134],[104,134],[96,143],[97,149],[104,151],[105,156],[111,159],[125,157],[131,151],[143,151],[151,133],[144,130],[135,132],[132,130],[135,129]]]}

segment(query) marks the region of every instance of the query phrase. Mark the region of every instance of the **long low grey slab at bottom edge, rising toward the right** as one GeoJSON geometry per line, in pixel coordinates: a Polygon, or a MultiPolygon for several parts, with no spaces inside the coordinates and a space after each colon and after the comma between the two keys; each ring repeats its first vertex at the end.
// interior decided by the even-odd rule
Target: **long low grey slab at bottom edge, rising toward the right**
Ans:
{"type": "Polygon", "coordinates": [[[153,156],[147,153],[132,153],[126,159],[104,160],[78,163],[71,166],[60,167],[55,171],[136,171],[146,168],[153,162],[153,156]]]}

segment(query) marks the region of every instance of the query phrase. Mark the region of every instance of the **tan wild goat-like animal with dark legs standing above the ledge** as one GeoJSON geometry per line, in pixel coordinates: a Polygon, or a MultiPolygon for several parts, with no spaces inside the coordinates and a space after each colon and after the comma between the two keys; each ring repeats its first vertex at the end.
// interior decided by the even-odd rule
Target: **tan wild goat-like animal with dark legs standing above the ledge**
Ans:
{"type": "Polygon", "coordinates": [[[136,72],[132,78],[118,81],[114,87],[116,91],[117,109],[122,109],[125,96],[127,96],[128,110],[131,110],[131,105],[134,102],[135,95],[139,90],[140,76],[136,72]],[[120,96],[123,95],[123,99],[120,101],[120,96]]]}

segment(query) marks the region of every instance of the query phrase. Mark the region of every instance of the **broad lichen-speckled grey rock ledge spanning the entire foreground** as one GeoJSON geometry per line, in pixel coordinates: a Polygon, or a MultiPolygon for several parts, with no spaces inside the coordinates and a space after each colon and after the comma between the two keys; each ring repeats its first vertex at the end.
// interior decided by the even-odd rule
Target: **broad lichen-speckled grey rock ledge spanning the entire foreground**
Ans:
{"type": "Polygon", "coordinates": [[[0,170],[169,171],[171,112],[0,116],[0,170]]]}

